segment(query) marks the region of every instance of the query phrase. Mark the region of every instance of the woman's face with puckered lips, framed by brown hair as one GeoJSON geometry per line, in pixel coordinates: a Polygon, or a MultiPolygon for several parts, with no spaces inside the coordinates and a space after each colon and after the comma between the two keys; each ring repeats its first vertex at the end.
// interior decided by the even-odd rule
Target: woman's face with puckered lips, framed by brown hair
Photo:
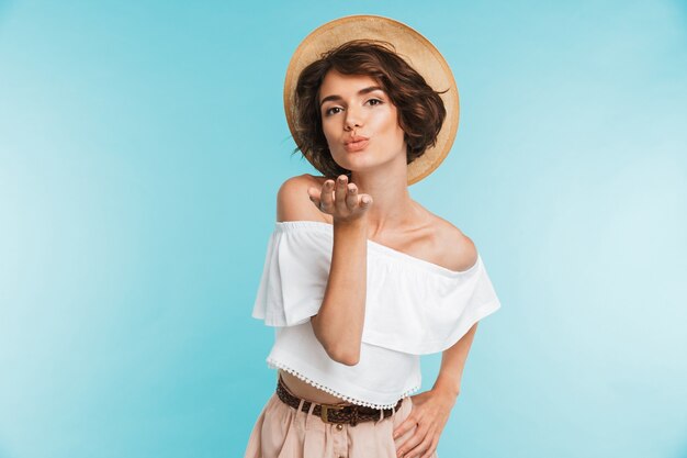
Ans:
{"type": "Polygon", "coordinates": [[[339,166],[363,170],[390,160],[405,164],[396,107],[374,78],[329,70],[318,102],[324,134],[339,166]]]}

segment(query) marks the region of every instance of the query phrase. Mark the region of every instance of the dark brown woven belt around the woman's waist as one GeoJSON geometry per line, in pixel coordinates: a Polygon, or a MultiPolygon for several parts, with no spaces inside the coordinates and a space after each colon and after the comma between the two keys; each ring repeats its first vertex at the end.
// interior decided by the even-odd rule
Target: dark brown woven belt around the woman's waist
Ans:
{"type": "MultiPolygon", "coordinates": [[[[281,375],[279,376],[279,382],[277,383],[277,395],[284,402],[284,404],[288,404],[293,409],[297,410],[301,404],[301,398],[293,395],[289,391],[281,379],[281,375]]],[[[304,401],[301,410],[307,413],[311,404],[311,401],[304,401]]],[[[373,409],[356,404],[315,404],[313,415],[319,416],[325,423],[348,423],[351,426],[356,426],[360,422],[390,417],[394,413],[394,410],[398,411],[398,409],[401,409],[401,404],[403,404],[403,399],[398,400],[396,406],[393,409],[373,409]]]]}

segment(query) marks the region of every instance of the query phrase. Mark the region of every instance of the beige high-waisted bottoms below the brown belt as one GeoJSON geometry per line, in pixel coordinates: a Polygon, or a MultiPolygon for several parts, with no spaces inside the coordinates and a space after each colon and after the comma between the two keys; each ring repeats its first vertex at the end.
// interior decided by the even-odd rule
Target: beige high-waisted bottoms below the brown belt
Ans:
{"type": "MultiPolygon", "coordinates": [[[[392,416],[356,426],[325,423],[313,415],[314,407],[311,404],[307,413],[296,411],[273,393],[252,428],[245,458],[396,458],[396,445],[415,433],[413,428],[393,439],[394,428],[413,409],[409,396],[392,416]]],[[[438,458],[437,453],[431,457],[438,458]]]]}

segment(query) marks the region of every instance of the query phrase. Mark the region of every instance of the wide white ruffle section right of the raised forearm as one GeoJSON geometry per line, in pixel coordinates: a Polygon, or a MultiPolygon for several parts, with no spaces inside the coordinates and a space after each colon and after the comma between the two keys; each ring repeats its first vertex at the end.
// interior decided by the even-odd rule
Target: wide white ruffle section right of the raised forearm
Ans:
{"type": "Polygon", "coordinates": [[[368,284],[375,287],[365,303],[368,344],[414,355],[443,351],[500,308],[481,255],[464,271],[405,260],[381,258],[370,272],[368,284]]]}

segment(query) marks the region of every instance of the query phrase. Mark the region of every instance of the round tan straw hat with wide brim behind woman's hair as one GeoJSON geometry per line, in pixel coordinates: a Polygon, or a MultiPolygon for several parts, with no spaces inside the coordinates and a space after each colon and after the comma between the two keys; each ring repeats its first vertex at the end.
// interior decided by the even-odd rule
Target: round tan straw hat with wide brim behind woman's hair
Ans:
{"type": "MultiPolygon", "coordinates": [[[[327,51],[351,40],[380,40],[394,45],[396,53],[405,59],[435,91],[440,93],[447,114],[435,146],[408,164],[408,185],[431,174],[449,154],[460,114],[458,87],[448,63],[429,40],[410,26],[390,18],[372,14],[356,14],[336,19],[311,32],[291,57],[284,81],[284,111],[289,130],[300,147],[295,129],[295,88],[301,71],[319,59],[327,51]]],[[[308,161],[312,160],[306,156],[308,161]]],[[[322,170],[319,170],[322,172],[322,170]]]]}

